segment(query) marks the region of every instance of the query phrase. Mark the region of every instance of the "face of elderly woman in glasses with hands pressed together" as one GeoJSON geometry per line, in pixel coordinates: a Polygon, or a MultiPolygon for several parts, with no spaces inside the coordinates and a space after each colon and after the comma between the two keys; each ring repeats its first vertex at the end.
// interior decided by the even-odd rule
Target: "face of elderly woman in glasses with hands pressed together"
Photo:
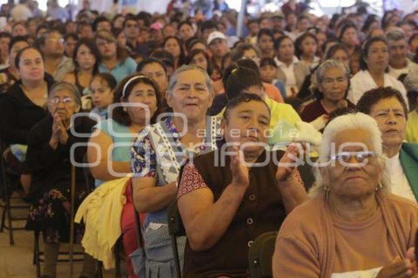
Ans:
{"type": "Polygon", "coordinates": [[[53,116],[59,115],[61,121],[69,121],[80,110],[80,105],[75,101],[72,92],[59,90],[49,97],[48,110],[53,116]]]}

